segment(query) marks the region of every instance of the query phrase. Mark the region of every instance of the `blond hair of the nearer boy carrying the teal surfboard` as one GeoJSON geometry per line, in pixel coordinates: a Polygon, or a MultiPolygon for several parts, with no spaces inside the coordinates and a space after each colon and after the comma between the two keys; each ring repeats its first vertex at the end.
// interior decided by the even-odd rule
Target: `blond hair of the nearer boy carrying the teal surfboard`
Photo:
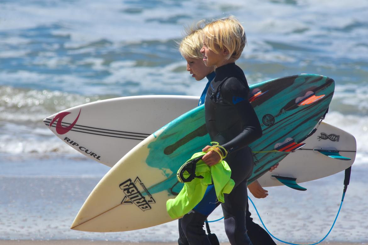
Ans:
{"type": "Polygon", "coordinates": [[[247,44],[243,26],[232,15],[207,24],[202,33],[203,42],[216,54],[225,48],[229,50],[226,59],[237,60],[247,44]]]}

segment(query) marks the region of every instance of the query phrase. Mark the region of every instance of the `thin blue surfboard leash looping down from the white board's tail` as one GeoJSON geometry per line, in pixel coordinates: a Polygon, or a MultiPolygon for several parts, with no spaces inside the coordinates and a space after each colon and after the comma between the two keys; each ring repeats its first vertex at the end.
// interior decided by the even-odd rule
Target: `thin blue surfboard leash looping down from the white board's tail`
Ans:
{"type": "MultiPolygon", "coordinates": [[[[325,237],[323,237],[319,242],[316,242],[316,243],[314,243],[314,244],[305,244],[305,245],[316,245],[316,244],[319,244],[319,243],[321,243],[323,240],[325,240],[325,239],[328,237],[328,235],[331,233],[332,228],[335,226],[335,223],[336,223],[337,217],[339,217],[339,213],[340,213],[341,207],[342,207],[342,205],[343,205],[343,201],[344,201],[345,193],[346,193],[346,190],[347,190],[347,186],[348,186],[348,184],[350,183],[350,173],[351,173],[351,166],[350,166],[349,168],[345,169],[345,178],[344,178],[344,190],[343,190],[343,196],[342,196],[342,198],[341,198],[341,203],[340,203],[339,211],[337,211],[337,215],[336,215],[336,217],[335,217],[335,220],[333,221],[333,224],[332,224],[332,226],[331,226],[330,230],[329,230],[329,231],[328,231],[328,233],[325,235],[325,237]]],[[[256,211],[256,213],[257,213],[258,217],[259,217],[259,220],[261,220],[261,223],[262,223],[263,227],[265,228],[265,230],[267,231],[267,233],[268,233],[268,234],[270,234],[270,236],[271,236],[271,237],[273,237],[273,238],[275,238],[277,241],[283,242],[283,243],[285,243],[285,244],[290,244],[290,245],[301,245],[301,244],[295,244],[295,243],[291,243],[291,242],[285,242],[285,241],[282,241],[281,239],[279,239],[279,238],[275,237],[274,235],[272,235],[272,234],[269,232],[269,230],[266,228],[265,224],[263,223],[263,220],[262,220],[261,216],[259,215],[258,210],[257,210],[257,208],[255,207],[254,202],[252,201],[252,199],[251,199],[249,196],[248,196],[248,199],[249,199],[249,201],[251,201],[251,203],[252,203],[252,205],[253,205],[253,207],[254,207],[254,209],[255,209],[255,211],[256,211]]],[[[206,221],[206,222],[207,222],[207,223],[210,223],[210,222],[216,222],[216,221],[222,220],[223,218],[224,218],[224,217],[222,217],[222,218],[220,218],[220,219],[216,219],[216,220],[206,221]]]]}

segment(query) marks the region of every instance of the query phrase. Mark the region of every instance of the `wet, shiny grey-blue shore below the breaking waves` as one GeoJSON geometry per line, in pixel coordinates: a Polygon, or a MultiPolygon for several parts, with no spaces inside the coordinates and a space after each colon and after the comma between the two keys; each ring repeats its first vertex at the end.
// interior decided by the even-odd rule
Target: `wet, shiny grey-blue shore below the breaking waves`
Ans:
{"type": "MultiPolygon", "coordinates": [[[[365,166],[357,165],[353,168],[353,178],[350,180],[341,213],[326,239],[327,242],[323,241],[321,244],[368,245],[367,226],[362,222],[368,219],[366,208],[362,205],[367,203],[367,174],[368,168],[365,166]]],[[[313,244],[324,237],[333,224],[340,206],[342,180],[343,173],[337,173],[314,182],[305,182],[303,187],[308,191],[299,193],[270,187],[268,200],[254,201],[266,227],[276,237],[288,242],[313,244]]],[[[71,230],[70,223],[86,199],[88,191],[98,181],[98,178],[73,176],[0,176],[3,187],[0,188],[0,196],[6,197],[0,207],[0,245],[100,245],[107,242],[123,245],[176,244],[177,221],[117,233],[71,230]]],[[[253,206],[250,207],[250,212],[254,222],[261,224],[253,206]]],[[[222,217],[221,209],[215,209],[210,215],[211,220],[218,217],[222,217]]],[[[211,231],[220,241],[228,241],[223,222],[212,223],[211,231]]]]}

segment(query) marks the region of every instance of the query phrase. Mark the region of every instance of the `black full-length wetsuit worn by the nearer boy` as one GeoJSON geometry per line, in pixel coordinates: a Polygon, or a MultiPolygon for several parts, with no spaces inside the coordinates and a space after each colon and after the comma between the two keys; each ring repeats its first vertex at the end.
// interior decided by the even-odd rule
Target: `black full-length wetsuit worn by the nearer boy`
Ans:
{"type": "MultiPolygon", "coordinates": [[[[211,140],[219,142],[229,152],[225,160],[235,182],[234,189],[225,194],[225,202],[221,204],[225,231],[231,244],[250,245],[245,213],[253,157],[248,145],[261,137],[262,129],[248,101],[249,87],[240,67],[230,63],[218,67],[215,72],[205,99],[206,127],[211,140]]],[[[202,205],[202,201],[198,205],[202,205]]],[[[207,216],[197,211],[183,216],[181,226],[190,244],[210,244],[203,230],[207,216]]]]}

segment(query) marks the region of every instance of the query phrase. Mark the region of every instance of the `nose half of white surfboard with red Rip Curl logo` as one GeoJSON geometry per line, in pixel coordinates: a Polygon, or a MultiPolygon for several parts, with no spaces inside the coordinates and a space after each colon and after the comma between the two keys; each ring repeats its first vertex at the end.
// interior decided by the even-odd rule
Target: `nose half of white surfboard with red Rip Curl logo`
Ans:
{"type": "Polygon", "coordinates": [[[198,100],[180,95],[113,98],[60,111],[43,122],[75,150],[113,167],[139,142],[196,107],[198,100]]]}

